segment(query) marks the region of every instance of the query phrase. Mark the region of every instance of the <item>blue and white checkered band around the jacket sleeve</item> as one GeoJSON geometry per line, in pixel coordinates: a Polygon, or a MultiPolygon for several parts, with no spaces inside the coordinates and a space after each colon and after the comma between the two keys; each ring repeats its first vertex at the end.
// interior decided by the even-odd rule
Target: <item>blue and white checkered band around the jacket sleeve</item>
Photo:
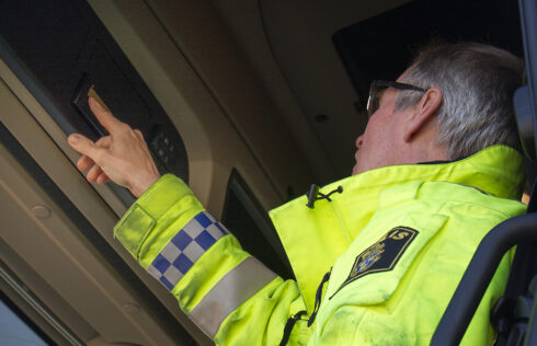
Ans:
{"type": "Polygon", "coordinates": [[[229,231],[214,216],[202,211],[172,238],[147,272],[172,290],[192,265],[227,233],[229,231]]]}

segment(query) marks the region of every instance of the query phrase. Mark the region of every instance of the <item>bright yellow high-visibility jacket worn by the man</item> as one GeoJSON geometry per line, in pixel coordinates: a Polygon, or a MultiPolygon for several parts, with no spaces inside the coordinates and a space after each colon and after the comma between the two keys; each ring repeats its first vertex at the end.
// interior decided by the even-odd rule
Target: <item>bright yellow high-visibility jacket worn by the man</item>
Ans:
{"type": "MultiPolygon", "coordinates": [[[[127,211],[115,237],[217,344],[277,345],[289,316],[297,345],[429,345],[476,247],[525,211],[523,160],[494,146],[448,163],[392,165],[325,186],[332,201],[297,198],[273,211],[297,280],[283,280],[241,250],[190,188],[164,175],[127,211]]],[[[490,344],[500,264],[462,344],[490,344]]]]}

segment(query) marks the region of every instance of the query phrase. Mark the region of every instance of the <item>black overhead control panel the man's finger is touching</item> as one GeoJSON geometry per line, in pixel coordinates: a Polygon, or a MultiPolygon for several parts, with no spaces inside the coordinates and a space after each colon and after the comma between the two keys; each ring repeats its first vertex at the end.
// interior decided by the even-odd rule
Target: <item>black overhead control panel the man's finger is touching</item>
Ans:
{"type": "Polygon", "coordinates": [[[144,134],[161,173],[188,181],[180,134],[85,1],[0,0],[0,58],[67,135],[106,135],[92,95],[144,134]]]}

